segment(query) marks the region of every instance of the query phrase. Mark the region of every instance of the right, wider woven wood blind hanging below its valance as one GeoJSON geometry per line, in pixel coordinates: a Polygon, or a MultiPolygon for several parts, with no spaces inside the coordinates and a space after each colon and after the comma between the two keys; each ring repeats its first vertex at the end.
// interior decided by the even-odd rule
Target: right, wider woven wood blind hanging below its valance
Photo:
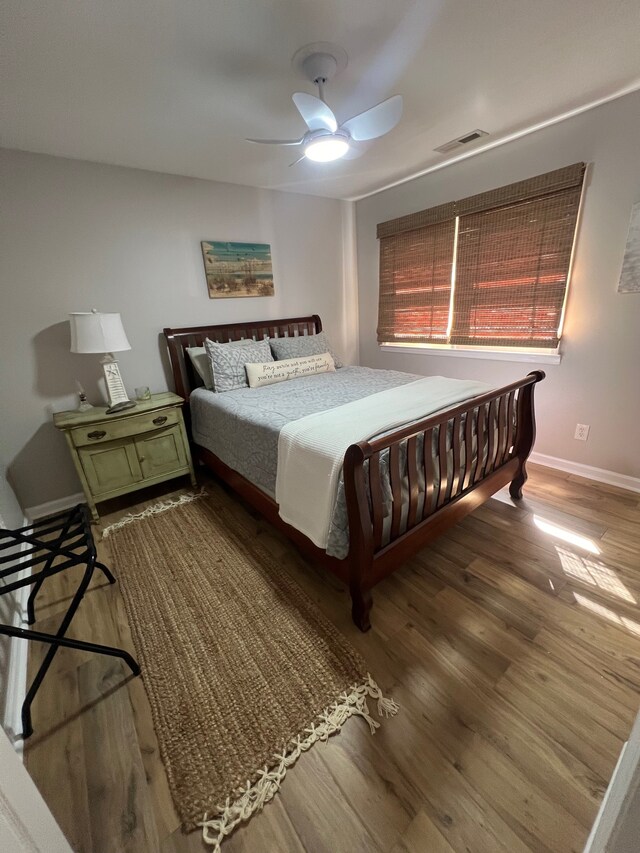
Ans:
{"type": "Polygon", "coordinates": [[[450,343],[558,345],[580,192],[460,217],[450,343]]]}

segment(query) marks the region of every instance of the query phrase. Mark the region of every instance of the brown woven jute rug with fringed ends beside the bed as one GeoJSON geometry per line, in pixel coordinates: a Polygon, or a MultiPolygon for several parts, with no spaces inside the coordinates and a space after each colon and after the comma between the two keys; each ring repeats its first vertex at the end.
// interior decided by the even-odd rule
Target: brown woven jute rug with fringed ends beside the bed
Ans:
{"type": "Polygon", "coordinates": [[[248,522],[185,495],[106,528],[169,786],[220,847],[346,720],[395,714],[362,658],[248,522]]]}

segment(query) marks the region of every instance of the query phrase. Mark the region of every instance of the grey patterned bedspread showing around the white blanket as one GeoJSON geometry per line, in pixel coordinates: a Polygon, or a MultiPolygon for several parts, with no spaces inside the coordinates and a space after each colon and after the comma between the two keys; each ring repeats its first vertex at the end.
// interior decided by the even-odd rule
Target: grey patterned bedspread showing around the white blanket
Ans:
{"type": "MultiPolygon", "coordinates": [[[[395,370],[343,367],[335,373],[320,373],[265,388],[241,388],[223,394],[197,388],[189,401],[193,438],[274,497],[278,436],[285,424],[422,378],[395,370]]],[[[342,559],[348,550],[341,481],[327,553],[342,559]]]]}

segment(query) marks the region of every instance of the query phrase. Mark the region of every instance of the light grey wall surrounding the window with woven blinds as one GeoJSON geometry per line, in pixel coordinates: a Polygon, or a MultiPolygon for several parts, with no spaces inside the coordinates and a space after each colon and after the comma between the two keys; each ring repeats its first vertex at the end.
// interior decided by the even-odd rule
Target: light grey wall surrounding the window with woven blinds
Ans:
{"type": "MultiPolygon", "coordinates": [[[[487,128],[491,130],[491,128],[487,128]]],[[[483,379],[536,365],[423,353],[376,343],[376,224],[579,160],[589,168],[560,365],[541,365],[536,451],[640,477],[640,293],[616,292],[632,204],[640,200],[640,93],[363,199],[356,205],[360,360],[373,367],[483,379]],[[589,440],[573,438],[590,424],[589,440]]]]}

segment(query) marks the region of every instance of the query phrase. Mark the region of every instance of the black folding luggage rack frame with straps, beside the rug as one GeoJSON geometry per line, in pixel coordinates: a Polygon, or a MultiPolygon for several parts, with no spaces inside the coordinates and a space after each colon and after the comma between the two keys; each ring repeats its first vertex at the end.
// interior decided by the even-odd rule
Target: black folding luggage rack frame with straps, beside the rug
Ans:
{"type": "Polygon", "coordinates": [[[32,569],[32,574],[28,577],[19,578],[11,583],[0,586],[0,595],[6,595],[25,586],[33,586],[27,603],[27,623],[29,625],[33,625],[35,622],[35,600],[45,580],[72,566],[79,565],[85,566],[82,580],[78,584],[78,588],[71,599],[67,612],[55,634],[46,634],[30,628],[17,628],[12,625],[0,624],[0,634],[5,634],[9,637],[20,637],[25,640],[34,640],[40,643],[49,643],[50,646],[22,704],[22,734],[25,738],[33,734],[31,704],[60,646],[119,657],[127,664],[134,675],[140,674],[138,663],[123,649],[91,643],[86,640],[73,640],[65,636],[71,620],[87,591],[87,587],[91,583],[95,570],[99,569],[110,584],[116,582],[109,569],[97,560],[87,507],[84,504],[79,504],[70,511],[61,512],[41,521],[36,521],[18,530],[0,529],[0,581],[25,569],[32,569]],[[45,536],[49,538],[43,539],[42,537],[45,536]],[[2,553],[17,544],[29,547],[17,553],[2,553]],[[58,557],[64,557],[65,559],[54,565],[54,560],[58,557]],[[40,564],[43,564],[42,568],[37,572],[33,572],[33,569],[40,564]]]}

